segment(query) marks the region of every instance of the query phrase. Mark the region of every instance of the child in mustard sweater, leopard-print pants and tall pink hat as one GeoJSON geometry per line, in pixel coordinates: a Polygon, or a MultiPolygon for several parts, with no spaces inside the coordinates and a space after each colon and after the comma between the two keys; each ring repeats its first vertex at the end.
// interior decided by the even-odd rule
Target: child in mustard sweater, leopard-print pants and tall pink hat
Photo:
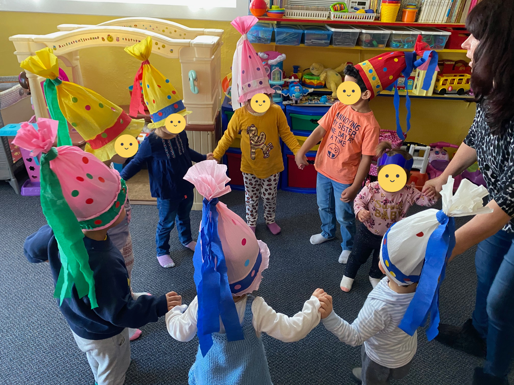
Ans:
{"type": "Polygon", "coordinates": [[[293,153],[298,151],[300,144],[289,129],[282,109],[271,104],[269,95],[274,90],[269,87],[262,63],[246,38],[246,33],[256,22],[255,16],[243,16],[231,23],[243,35],[237,43],[232,65],[232,108],[235,112],[213,154],[220,160],[241,132],[241,171],[245,183],[247,224],[255,233],[259,197],[262,197],[266,224],[271,233],[277,235],[281,232],[275,222],[277,186],[280,172],[284,170],[280,138],[293,153]],[[264,112],[253,110],[250,100],[256,94],[261,94],[269,109],[264,112]],[[238,102],[244,103],[241,108],[238,102]]]}

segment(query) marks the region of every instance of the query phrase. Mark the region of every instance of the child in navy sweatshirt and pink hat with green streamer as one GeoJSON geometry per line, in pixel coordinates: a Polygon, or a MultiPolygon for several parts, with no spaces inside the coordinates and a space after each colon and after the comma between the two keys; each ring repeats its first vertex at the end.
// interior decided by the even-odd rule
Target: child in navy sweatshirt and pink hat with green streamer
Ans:
{"type": "Polygon", "coordinates": [[[134,300],[123,257],[107,230],[125,217],[125,182],[94,155],[52,147],[57,121],[22,125],[16,145],[41,156],[41,206],[48,225],[30,235],[24,254],[48,261],[60,311],[98,385],[121,385],[130,364],[128,329],[156,322],[179,299],[170,292],[134,300]]]}

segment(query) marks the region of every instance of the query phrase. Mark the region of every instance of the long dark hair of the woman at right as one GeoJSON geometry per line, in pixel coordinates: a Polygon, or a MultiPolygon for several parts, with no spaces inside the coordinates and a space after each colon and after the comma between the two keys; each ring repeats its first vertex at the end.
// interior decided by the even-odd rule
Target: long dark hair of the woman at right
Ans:
{"type": "Polygon", "coordinates": [[[514,108],[514,2],[483,0],[466,19],[466,28],[479,40],[473,54],[471,88],[483,102],[491,133],[503,135],[514,108]]]}

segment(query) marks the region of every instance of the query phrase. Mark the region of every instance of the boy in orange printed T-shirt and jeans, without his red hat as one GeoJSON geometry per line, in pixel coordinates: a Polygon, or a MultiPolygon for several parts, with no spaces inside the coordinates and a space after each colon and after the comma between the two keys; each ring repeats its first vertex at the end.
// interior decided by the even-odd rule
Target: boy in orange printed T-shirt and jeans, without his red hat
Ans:
{"type": "Polygon", "coordinates": [[[353,200],[369,173],[380,130],[370,108],[372,92],[366,88],[359,71],[347,65],[344,75],[345,82],[351,81],[360,87],[359,100],[351,106],[335,103],[318,121],[318,127],[295,157],[298,167],[305,167],[305,154],[321,140],[314,164],[318,171],[316,194],[321,233],[310,237],[310,243],[316,245],[333,239],[337,219],[342,238],[339,263],[346,263],[353,248],[353,200]]]}

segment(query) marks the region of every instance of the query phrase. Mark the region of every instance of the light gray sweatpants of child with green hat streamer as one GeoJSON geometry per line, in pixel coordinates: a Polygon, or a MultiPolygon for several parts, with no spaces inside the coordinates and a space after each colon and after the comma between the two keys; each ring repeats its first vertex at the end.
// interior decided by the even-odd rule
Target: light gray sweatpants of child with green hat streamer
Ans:
{"type": "Polygon", "coordinates": [[[79,349],[86,354],[97,384],[123,385],[130,365],[128,329],[114,337],[99,340],[85,339],[71,332],[79,349]]]}

